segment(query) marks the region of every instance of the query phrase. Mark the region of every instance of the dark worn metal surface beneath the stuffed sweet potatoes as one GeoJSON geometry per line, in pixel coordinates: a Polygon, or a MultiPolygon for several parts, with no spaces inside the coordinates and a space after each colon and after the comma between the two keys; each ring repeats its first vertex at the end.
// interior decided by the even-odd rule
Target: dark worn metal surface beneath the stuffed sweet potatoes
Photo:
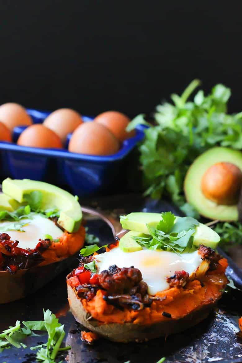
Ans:
{"type": "MultiPolygon", "coordinates": [[[[84,204],[84,203],[83,203],[84,204]]],[[[87,204],[87,201],[85,201],[87,204]]],[[[93,207],[108,209],[109,212],[121,214],[130,211],[161,211],[170,210],[177,213],[169,203],[157,205],[155,201],[144,202],[140,196],[112,197],[110,200],[99,200],[93,207]]],[[[112,241],[109,227],[95,218],[87,221],[90,233],[99,236],[102,243],[112,241]]],[[[238,317],[242,314],[242,294],[233,291],[225,294],[219,303],[218,310],[210,314],[209,318],[181,334],[151,340],[146,343],[113,343],[100,339],[94,346],[82,343],[78,326],[67,305],[65,276],[67,272],[58,276],[46,287],[26,299],[1,305],[0,331],[18,320],[42,319],[42,309],[50,309],[60,317],[65,324],[66,344],[72,349],[66,357],[69,363],[156,363],[163,356],[166,363],[239,363],[242,362],[242,339],[238,332],[238,317]],[[67,312],[66,312],[67,311],[67,312]]],[[[31,337],[26,339],[28,347],[43,342],[46,337],[31,337]]],[[[65,356],[63,356],[65,359],[65,356]]],[[[29,348],[11,348],[0,353],[0,363],[34,363],[35,354],[29,348]]]]}

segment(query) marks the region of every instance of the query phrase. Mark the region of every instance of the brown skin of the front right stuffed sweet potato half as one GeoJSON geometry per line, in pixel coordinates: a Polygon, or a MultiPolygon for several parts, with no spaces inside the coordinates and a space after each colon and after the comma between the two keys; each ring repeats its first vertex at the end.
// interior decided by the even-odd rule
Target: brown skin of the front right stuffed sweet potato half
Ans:
{"type": "Polygon", "coordinates": [[[189,327],[197,325],[208,317],[214,303],[210,303],[194,310],[180,319],[169,319],[151,325],[139,325],[134,323],[111,323],[101,324],[91,318],[90,314],[84,309],[82,302],[75,295],[75,291],[67,285],[68,300],[70,309],[77,322],[87,329],[94,331],[101,337],[112,340],[113,342],[142,342],[149,339],[167,337],[176,334],[189,327]]]}

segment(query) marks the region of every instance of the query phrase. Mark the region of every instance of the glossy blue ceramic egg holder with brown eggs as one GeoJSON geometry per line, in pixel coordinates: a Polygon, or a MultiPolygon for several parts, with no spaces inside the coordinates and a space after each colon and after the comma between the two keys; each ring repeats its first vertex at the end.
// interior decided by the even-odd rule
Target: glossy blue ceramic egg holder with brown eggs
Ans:
{"type": "MultiPolygon", "coordinates": [[[[34,123],[42,123],[50,114],[28,109],[34,123]]],[[[83,121],[93,121],[82,117],[83,121]]],[[[46,181],[69,188],[80,197],[104,195],[118,190],[125,182],[125,161],[128,154],[144,137],[143,127],[136,128],[136,135],[124,140],[114,155],[95,156],[67,151],[71,134],[67,136],[66,149],[41,149],[19,146],[17,139],[26,126],[13,130],[13,142],[0,142],[0,180],[13,179],[46,181]]]]}

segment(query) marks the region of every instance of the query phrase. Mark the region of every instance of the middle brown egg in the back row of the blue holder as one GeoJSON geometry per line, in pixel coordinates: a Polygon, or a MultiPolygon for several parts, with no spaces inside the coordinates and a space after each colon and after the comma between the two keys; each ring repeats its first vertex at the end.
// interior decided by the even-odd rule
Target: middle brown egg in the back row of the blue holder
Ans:
{"type": "Polygon", "coordinates": [[[81,123],[83,123],[83,120],[78,112],[71,109],[59,109],[46,117],[43,125],[56,132],[60,136],[62,143],[64,143],[66,136],[81,123]]]}

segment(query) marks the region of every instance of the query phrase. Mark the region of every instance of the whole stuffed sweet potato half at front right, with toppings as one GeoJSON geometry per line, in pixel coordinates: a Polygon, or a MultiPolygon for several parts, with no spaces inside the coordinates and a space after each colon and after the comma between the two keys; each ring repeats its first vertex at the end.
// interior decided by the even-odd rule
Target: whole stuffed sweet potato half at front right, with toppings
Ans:
{"type": "Polygon", "coordinates": [[[97,246],[82,249],[78,268],[67,276],[75,319],[110,340],[130,342],[178,333],[206,318],[227,284],[227,261],[198,245],[198,238],[206,243],[206,226],[201,236],[196,220],[179,220],[145,224],[148,233],[132,224],[102,254],[88,256],[97,246]]]}

